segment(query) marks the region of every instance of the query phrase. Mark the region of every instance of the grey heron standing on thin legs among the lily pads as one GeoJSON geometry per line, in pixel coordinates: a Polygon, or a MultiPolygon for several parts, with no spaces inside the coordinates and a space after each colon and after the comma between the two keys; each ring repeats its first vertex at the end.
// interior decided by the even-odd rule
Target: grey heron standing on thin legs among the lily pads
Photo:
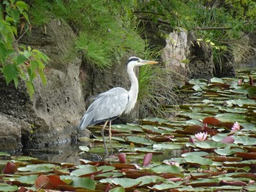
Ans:
{"type": "Polygon", "coordinates": [[[105,143],[104,128],[110,122],[109,137],[111,141],[111,120],[118,118],[123,112],[128,114],[132,108],[135,107],[135,103],[138,97],[138,79],[135,75],[135,66],[143,66],[146,64],[157,64],[157,61],[143,60],[138,57],[129,58],[127,64],[127,73],[131,82],[131,88],[127,91],[124,88],[112,88],[109,91],[100,93],[92,98],[94,101],[86,110],[85,115],[80,121],[78,130],[84,130],[88,126],[93,126],[97,123],[104,122],[101,134],[105,147],[105,153],[108,155],[108,148],[105,143]]]}

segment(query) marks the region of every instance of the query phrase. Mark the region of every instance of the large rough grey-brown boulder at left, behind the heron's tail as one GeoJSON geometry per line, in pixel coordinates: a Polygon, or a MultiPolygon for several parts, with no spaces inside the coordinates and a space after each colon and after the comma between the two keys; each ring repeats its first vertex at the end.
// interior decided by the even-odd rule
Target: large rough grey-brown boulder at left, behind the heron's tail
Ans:
{"type": "MultiPolygon", "coordinates": [[[[17,150],[21,146],[21,135],[25,147],[70,142],[78,134],[77,126],[85,108],[79,79],[81,60],[72,56],[70,49],[75,38],[72,28],[67,23],[52,20],[46,31],[45,34],[45,28],[34,28],[30,36],[21,39],[21,43],[37,48],[50,57],[45,68],[47,85],[42,85],[37,78],[34,81],[36,91],[31,100],[23,82],[15,89],[13,83],[7,86],[4,78],[0,78],[0,112],[16,119],[4,118],[0,129],[7,133],[4,134],[6,141],[14,132],[14,128],[10,127],[17,129],[17,150]]],[[[2,148],[4,146],[0,145],[2,148]]]]}

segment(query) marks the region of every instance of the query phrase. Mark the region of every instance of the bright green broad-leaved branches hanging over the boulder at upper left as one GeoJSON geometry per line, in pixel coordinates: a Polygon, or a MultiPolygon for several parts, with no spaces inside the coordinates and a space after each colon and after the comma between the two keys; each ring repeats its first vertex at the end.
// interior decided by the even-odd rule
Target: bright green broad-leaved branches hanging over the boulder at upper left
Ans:
{"type": "Polygon", "coordinates": [[[16,88],[19,79],[24,80],[32,97],[33,81],[37,74],[43,84],[46,83],[43,69],[48,57],[31,47],[18,46],[18,40],[15,39],[18,37],[18,27],[20,32],[30,28],[28,10],[29,7],[23,1],[5,0],[0,4],[0,72],[4,74],[7,85],[13,80],[16,88]]]}

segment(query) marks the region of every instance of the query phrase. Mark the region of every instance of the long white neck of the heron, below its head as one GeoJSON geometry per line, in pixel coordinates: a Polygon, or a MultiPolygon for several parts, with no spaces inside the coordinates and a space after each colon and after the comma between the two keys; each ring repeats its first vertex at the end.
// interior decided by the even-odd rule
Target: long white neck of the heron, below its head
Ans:
{"type": "Polygon", "coordinates": [[[134,72],[134,65],[127,66],[127,73],[129,75],[129,80],[131,82],[131,88],[129,89],[129,101],[125,112],[129,113],[132,110],[132,108],[135,107],[135,103],[138,97],[139,84],[138,79],[134,72]]]}

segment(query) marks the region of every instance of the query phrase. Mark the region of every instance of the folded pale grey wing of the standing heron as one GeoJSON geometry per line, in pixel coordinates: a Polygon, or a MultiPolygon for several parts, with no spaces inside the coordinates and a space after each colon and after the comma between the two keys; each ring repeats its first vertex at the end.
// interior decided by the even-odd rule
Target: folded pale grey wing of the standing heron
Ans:
{"type": "Polygon", "coordinates": [[[80,121],[79,129],[121,115],[127,107],[129,95],[124,88],[112,88],[93,99],[94,102],[86,110],[86,114],[80,121]]]}

